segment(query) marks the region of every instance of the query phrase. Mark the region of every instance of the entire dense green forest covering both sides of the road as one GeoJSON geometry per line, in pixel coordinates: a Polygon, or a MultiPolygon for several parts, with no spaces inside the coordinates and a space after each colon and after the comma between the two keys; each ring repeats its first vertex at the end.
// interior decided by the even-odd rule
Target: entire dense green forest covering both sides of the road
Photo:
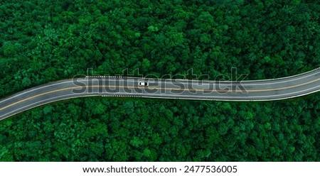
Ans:
{"type": "MultiPolygon", "coordinates": [[[[12,0],[0,97],[58,79],[319,67],[320,1],[12,0]]],[[[0,121],[1,161],[320,161],[320,94],[256,103],[96,97],[0,121]]]]}

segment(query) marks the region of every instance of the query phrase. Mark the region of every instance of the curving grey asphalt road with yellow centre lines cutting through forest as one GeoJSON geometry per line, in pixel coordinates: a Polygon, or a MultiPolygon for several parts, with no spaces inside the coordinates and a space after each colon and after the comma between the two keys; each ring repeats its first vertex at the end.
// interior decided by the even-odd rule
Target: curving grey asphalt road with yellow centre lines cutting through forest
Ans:
{"type": "Polygon", "coordinates": [[[196,81],[137,77],[83,77],[50,82],[0,100],[0,120],[53,101],[76,97],[149,97],[218,101],[272,101],[319,92],[320,68],[278,79],[196,81]],[[148,82],[147,87],[139,82],[148,82]]]}

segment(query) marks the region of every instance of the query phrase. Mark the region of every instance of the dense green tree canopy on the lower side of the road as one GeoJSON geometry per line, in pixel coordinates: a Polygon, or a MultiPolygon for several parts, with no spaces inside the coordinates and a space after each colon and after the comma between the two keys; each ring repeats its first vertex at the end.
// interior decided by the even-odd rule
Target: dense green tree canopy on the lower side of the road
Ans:
{"type": "Polygon", "coordinates": [[[294,101],[246,104],[68,100],[1,121],[0,159],[319,160],[319,109],[314,108],[319,102],[319,94],[294,101]],[[96,113],[90,108],[92,103],[105,108],[96,113]]]}

